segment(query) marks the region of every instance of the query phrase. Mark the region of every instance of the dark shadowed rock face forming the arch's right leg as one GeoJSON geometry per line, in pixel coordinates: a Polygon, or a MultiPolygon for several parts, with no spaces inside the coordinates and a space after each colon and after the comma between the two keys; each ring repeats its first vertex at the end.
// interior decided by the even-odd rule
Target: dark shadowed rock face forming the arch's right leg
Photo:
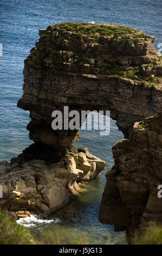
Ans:
{"type": "Polygon", "coordinates": [[[134,231],[148,222],[162,223],[162,115],[135,123],[130,139],[112,148],[114,167],[106,174],[106,187],[99,219],[127,230],[129,241],[134,231]]]}

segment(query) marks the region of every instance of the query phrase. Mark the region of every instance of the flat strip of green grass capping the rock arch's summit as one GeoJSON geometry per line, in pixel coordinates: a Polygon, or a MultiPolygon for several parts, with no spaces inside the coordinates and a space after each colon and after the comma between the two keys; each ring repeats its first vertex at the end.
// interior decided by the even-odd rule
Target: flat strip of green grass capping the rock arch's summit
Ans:
{"type": "Polygon", "coordinates": [[[115,25],[115,24],[89,24],[89,23],[74,23],[74,22],[62,22],[56,25],[56,28],[64,31],[75,32],[80,35],[89,35],[95,37],[98,35],[111,36],[111,38],[127,39],[132,35],[133,38],[142,38],[145,33],[142,33],[139,29],[133,29],[131,27],[115,25]]]}

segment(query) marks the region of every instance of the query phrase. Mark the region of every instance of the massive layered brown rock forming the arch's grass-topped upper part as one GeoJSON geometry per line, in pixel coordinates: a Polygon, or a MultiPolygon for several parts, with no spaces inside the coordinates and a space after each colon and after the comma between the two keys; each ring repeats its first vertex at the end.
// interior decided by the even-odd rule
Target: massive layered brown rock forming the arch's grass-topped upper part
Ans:
{"type": "Polygon", "coordinates": [[[63,112],[63,106],[79,112],[110,110],[125,137],[135,121],[161,111],[161,58],[152,45],[154,36],[138,29],[122,36],[80,34],[75,26],[73,31],[67,25],[40,30],[39,42],[24,61],[24,94],[18,101],[18,107],[30,111],[30,139],[58,152],[78,139],[76,130],[51,129],[51,113],[63,112]]]}

